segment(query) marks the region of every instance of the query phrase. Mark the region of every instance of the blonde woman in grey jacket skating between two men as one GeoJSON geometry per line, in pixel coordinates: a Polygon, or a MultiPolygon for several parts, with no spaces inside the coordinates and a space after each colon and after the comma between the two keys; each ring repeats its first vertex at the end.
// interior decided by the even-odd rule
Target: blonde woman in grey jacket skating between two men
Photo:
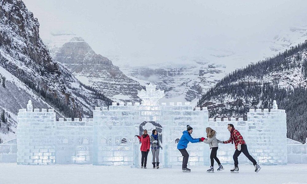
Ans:
{"type": "Polygon", "coordinates": [[[216,139],[216,131],[210,127],[207,127],[206,133],[207,133],[207,138],[205,138],[204,143],[209,144],[209,147],[211,149],[211,154],[210,154],[211,167],[210,169],[207,170],[207,172],[214,172],[213,168],[214,160],[219,164],[219,168],[217,169],[217,171],[221,171],[224,168],[221,165],[220,160],[216,156],[217,149],[219,148],[219,143],[216,139]]]}

